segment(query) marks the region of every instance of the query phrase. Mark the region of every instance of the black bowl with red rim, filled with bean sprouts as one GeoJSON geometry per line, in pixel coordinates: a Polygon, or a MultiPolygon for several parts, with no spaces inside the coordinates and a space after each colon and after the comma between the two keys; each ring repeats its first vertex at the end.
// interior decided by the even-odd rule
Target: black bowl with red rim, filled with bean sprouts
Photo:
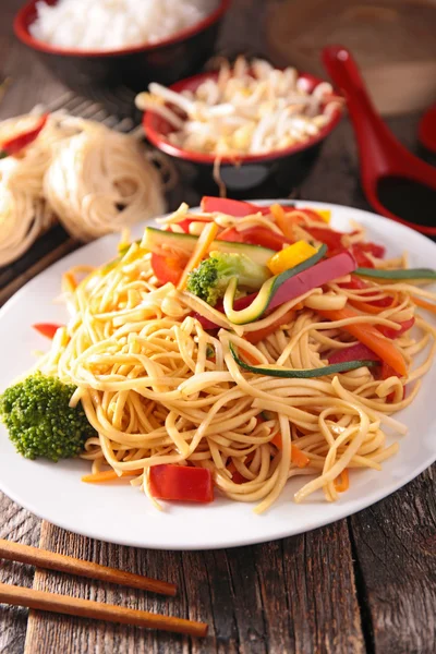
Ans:
{"type": "Polygon", "coordinates": [[[239,57],[170,87],[136,96],[148,141],[210,194],[294,190],[341,120],[343,98],[293,68],[239,57]]]}

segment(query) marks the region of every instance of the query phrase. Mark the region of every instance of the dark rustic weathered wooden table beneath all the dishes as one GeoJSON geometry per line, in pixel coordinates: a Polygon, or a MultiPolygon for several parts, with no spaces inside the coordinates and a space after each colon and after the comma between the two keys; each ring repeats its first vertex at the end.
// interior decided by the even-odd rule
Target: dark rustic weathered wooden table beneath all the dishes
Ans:
{"type": "MultiPolygon", "coordinates": [[[[1,2],[0,76],[12,76],[13,83],[0,105],[0,118],[49,102],[65,92],[14,41],[10,24],[20,4],[20,0],[1,2]]],[[[235,0],[221,46],[231,51],[264,51],[265,4],[235,0]]],[[[390,124],[413,148],[416,117],[398,118],[390,124]]],[[[347,122],[326,144],[300,196],[367,208],[347,122]]],[[[41,522],[0,496],[1,537],[166,578],[180,585],[180,594],[175,601],[166,601],[61,573],[35,572],[8,561],[0,567],[0,581],[167,611],[210,626],[206,640],[190,642],[0,606],[0,652],[434,654],[435,473],[433,467],[387,499],[324,529],[265,545],[205,553],[134,549],[92,541],[41,522]]]]}

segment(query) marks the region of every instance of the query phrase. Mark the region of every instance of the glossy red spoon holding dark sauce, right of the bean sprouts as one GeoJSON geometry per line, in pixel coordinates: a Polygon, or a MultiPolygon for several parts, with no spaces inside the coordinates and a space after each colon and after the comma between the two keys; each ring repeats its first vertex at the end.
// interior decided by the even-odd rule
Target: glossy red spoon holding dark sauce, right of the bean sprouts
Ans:
{"type": "Polygon", "coordinates": [[[347,98],[367,201],[383,216],[435,237],[436,168],[409,153],[385,125],[347,48],[327,46],[323,63],[347,98]]]}

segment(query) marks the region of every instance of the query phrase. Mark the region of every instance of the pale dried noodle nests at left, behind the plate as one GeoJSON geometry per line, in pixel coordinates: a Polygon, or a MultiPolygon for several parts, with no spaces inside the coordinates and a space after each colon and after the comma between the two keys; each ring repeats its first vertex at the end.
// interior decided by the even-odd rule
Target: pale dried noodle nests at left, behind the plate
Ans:
{"type": "MultiPolygon", "coordinates": [[[[0,123],[0,142],[29,124],[28,116],[0,123]]],[[[51,114],[23,152],[0,160],[0,266],[56,219],[89,241],[165,209],[159,173],[135,137],[63,113],[51,114]]]]}

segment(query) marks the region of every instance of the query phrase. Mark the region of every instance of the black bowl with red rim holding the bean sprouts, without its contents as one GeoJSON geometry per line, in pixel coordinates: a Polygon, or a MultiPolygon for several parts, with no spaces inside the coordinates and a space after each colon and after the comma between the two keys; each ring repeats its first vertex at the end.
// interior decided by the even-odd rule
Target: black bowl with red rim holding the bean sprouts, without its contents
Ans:
{"type": "MultiPolygon", "coordinates": [[[[178,93],[195,90],[207,78],[216,78],[217,74],[216,72],[201,73],[177,82],[170,88],[178,93]]],[[[312,93],[318,84],[324,82],[324,80],[310,73],[300,73],[299,78],[306,81],[308,93],[312,93]]],[[[219,174],[229,195],[239,197],[249,191],[251,196],[254,197],[256,195],[254,190],[261,194],[265,191],[267,193],[291,192],[310,173],[319,156],[324,141],[339,123],[341,117],[342,109],[338,108],[316,136],[291,147],[263,155],[241,156],[237,159],[234,157],[222,157],[219,174]]],[[[219,191],[214,180],[215,157],[213,155],[184,150],[170,143],[168,135],[173,131],[173,128],[168,121],[152,111],[144,113],[143,126],[148,141],[172,158],[181,175],[191,185],[204,193],[216,194],[219,191]]]]}

